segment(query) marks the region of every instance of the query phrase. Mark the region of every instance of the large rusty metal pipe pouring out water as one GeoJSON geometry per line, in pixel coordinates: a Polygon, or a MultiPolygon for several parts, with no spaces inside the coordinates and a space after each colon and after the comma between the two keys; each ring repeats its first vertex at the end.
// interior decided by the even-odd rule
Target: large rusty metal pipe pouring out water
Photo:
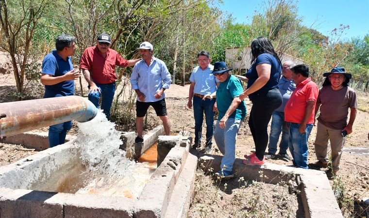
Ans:
{"type": "Polygon", "coordinates": [[[87,122],[98,109],[81,96],[0,103],[0,139],[70,120],[87,122]]]}

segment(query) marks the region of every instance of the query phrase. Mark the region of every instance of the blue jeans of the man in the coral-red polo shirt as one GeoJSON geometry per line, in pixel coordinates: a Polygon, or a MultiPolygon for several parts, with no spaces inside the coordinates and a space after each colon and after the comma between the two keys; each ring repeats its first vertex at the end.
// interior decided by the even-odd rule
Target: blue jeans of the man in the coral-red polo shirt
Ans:
{"type": "Polygon", "coordinates": [[[289,141],[288,147],[293,157],[293,164],[297,167],[309,169],[307,167],[307,140],[313,128],[313,124],[307,124],[305,133],[299,132],[300,124],[288,122],[289,141]]]}

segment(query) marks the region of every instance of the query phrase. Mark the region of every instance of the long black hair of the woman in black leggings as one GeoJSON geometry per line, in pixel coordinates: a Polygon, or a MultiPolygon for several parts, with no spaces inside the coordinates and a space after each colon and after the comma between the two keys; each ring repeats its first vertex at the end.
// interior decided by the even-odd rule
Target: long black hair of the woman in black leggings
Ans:
{"type": "Polygon", "coordinates": [[[251,65],[255,61],[257,56],[263,53],[268,53],[268,54],[273,55],[273,57],[277,59],[279,64],[281,64],[282,66],[281,59],[279,59],[277,52],[274,51],[274,47],[271,44],[271,42],[265,37],[257,37],[251,42],[251,52],[250,52],[251,65]]]}

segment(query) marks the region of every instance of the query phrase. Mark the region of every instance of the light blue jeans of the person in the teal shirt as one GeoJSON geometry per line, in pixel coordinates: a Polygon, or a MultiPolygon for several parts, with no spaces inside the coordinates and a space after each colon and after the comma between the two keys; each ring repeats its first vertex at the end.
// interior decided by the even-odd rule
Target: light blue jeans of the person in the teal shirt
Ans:
{"type": "Polygon", "coordinates": [[[236,139],[240,124],[240,120],[229,118],[227,122],[225,122],[225,128],[222,129],[219,126],[219,121],[217,121],[214,131],[214,140],[217,143],[219,151],[223,154],[220,170],[232,171],[233,169],[233,163],[235,163],[236,139]]]}

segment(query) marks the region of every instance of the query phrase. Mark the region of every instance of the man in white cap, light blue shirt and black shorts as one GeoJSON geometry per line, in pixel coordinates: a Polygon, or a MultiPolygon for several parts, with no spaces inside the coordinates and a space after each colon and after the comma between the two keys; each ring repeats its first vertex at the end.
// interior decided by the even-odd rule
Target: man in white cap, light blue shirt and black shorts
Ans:
{"type": "Polygon", "coordinates": [[[156,115],[162,120],[166,135],[170,135],[170,120],[167,114],[164,90],[172,82],[167,65],[155,58],[153,47],[149,42],[141,43],[142,60],[134,65],[131,75],[132,89],[137,94],[136,101],[136,143],[143,142],[144,116],[152,106],[156,115]]]}

